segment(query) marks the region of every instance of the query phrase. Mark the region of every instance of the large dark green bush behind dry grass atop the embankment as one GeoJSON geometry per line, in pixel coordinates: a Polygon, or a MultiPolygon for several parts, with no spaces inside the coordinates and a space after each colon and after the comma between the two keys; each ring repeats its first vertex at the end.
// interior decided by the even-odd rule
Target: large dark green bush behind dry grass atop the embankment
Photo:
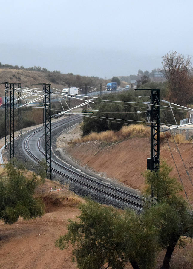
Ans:
{"type": "MultiPolygon", "coordinates": [[[[138,114],[137,111],[146,111],[146,105],[139,105],[135,103],[126,103],[126,102],[139,102],[139,99],[136,98],[139,96],[141,92],[139,91],[125,91],[117,94],[118,98],[112,100],[121,101],[125,103],[117,103],[117,102],[106,102],[105,100],[109,100],[110,96],[102,97],[104,101],[97,100],[92,107],[94,110],[99,110],[98,112],[94,112],[93,116],[101,117],[91,118],[91,117],[84,117],[83,125],[82,125],[82,135],[88,135],[91,132],[102,132],[107,130],[117,131],[120,130],[121,127],[125,124],[136,123],[134,121],[145,121],[145,113],[138,114]],[[135,98],[131,98],[134,97],[135,98]],[[128,98],[127,98],[128,97],[128,98]],[[118,112],[118,113],[112,113],[118,112]],[[107,119],[111,118],[111,119],[107,119]]],[[[148,93],[149,94],[149,93],[148,93]]],[[[144,91],[143,91],[144,95],[144,91]]]]}

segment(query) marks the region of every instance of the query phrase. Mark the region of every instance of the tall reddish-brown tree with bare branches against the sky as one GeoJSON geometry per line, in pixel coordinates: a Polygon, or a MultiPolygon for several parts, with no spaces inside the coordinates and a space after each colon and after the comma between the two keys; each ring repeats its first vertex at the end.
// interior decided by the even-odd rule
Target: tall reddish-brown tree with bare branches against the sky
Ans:
{"type": "Polygon", "coordinates": [[[186,58],[175,51],[162,59],[163,73],[169,82],[169,100],[186,106],[193,95],[191,56],[186,58]]]}

